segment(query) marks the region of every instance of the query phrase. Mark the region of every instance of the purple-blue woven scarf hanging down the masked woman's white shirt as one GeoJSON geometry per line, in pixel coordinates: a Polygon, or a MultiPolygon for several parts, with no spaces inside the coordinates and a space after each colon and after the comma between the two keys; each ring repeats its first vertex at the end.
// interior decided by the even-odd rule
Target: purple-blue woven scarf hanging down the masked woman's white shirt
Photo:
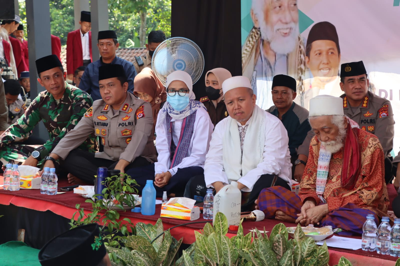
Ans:
{"type": "Polygon", "coordinates": [[[180,136],[178,143],[175,144],[174,140],[172,140],[172,122],[171,116],[167,114],[166,122],[169,125],[167,131],[167,140],[168,140],[168,147],[170,149],[171,154],[171,166],[170,169],[174,168],[175,166],[179,165],[183,158],[188,156],[190,140],[192,139],[193,135],[193,127],[194,121],[196,120],[196,112],[194,111],[189,116],[186,116],[182,119],[182,125],[180,128],[180,136]]]}

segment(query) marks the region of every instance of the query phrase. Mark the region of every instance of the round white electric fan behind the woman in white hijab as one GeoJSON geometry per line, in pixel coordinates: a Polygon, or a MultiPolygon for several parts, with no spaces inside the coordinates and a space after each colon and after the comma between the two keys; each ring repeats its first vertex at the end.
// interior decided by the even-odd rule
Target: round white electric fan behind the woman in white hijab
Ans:
{"type": "Polygon", "coordinates": [[[204,70],[204,56],[198,45],[184,37],[166,39],[154,51],[151,66],[156,77],[166,85],[166,77],[176,70],[186,71],[193,84],[204,70]]]}

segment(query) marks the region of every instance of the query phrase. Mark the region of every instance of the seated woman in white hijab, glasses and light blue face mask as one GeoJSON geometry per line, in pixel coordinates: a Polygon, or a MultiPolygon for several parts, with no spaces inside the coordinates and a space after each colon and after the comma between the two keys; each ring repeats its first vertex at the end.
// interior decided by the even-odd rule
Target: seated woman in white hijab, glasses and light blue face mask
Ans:
{"type": "Polygon", "coordinates": [[[146,179],[154,177],[157,197],[162,197],[163,191],[180,197],[188,180],[204,172],[214,126],[204,105],[194,100],[188,73],[172,72],[166,79],[166,88],[167,101],[158,113],[155,128],[158,162],[144,171],[136,169],[131,176],[140,189],[146,179]]]}

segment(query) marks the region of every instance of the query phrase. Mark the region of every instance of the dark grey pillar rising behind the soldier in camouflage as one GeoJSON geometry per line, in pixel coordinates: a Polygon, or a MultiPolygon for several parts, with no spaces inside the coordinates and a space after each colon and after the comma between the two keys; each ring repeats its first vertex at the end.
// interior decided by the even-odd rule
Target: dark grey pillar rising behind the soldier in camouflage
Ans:
{"type": "MultiPolygon", "coordinates": [[[[35,60],[51,55],[50,38],[50,2],[49,0],[25,0],[26,5],[26,32],[28,33],[30,95],[34,99],[38,93],[44,91],[37,81],[38,74],[35,60]]],[[[35,136],[48,139],[48,132],[43,123],[39,123],[33,130],[35,136]]]]}

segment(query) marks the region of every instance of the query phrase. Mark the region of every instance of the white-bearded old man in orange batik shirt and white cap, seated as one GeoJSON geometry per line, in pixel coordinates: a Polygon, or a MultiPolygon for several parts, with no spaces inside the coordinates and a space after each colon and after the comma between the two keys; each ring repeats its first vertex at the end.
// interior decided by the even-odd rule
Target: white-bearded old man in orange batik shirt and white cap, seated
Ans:
{"type": "Polygon", "coordinates": [[[375,135],[344,116],[341,98],[311,99],[309,121],[315,136],[299,194],[280,187],[263,189],[258,208],[268,218],[362,234],[366,216],[373,214],[378,223],[389,205],[382,146],[375,135]]]}

